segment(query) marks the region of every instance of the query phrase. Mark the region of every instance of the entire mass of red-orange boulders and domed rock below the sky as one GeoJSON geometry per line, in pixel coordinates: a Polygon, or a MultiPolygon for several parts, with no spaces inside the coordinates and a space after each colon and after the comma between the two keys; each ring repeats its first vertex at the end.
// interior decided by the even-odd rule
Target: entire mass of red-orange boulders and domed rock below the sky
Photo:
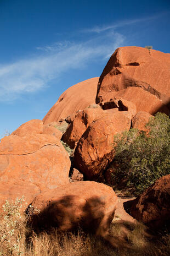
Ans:
{"type": "MultiPolygon", "coordinates": [[[[93,227],[105,236],[117,207],[114,190],[103,184],[112,183],[116,168],[109,168],[115,135],[145,130],[157,112],[169,115],[169,67],[168,53],[118,48],[100,78],[71,86],[43,121],[26,122],[1,139],[0,205],[24,195],[24,210],[30,204],[39,209],[31,219],[35,228],[93,227]]],[[[150,226],[165,224],[169,184],[168,175],[141,194],[133,216],[150,226]]]]}

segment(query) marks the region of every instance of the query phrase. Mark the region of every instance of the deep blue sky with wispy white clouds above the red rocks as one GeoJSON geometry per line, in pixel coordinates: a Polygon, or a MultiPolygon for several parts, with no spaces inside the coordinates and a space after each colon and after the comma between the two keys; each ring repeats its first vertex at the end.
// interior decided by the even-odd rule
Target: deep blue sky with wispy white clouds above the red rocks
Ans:
{"type": "Polygon", "coordinates": [[[0,0],[0,138],[99,77],[117,47],[170,53],[169,17],[169,0],[0,0]]]}

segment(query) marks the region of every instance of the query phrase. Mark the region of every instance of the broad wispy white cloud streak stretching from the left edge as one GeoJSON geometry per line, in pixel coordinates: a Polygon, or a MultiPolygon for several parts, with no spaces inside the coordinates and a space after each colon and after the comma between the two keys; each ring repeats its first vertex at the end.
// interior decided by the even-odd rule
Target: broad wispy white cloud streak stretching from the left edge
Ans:
{"type": "Polygon", "coordinates": [[[83,42],[55,42],[37,47],[36,57],[0,64],[0,101],[12,101],[20,95],[46,88],[49,81],[70,69],[82,69],[96,59],[108,58],[121,46],[124,37],[108,32],[83,42]]]}

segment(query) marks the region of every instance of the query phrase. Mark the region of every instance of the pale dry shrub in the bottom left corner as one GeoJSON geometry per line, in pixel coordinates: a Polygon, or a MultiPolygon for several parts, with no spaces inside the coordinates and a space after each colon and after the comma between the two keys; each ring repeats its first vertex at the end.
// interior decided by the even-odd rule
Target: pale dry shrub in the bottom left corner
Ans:
{"type": "MultiPolygon", "coordinates": [[[[25,255],[26,223],[29,216],[36,211],[31,205],[28,214],[24,214],[22,208],[26,208],[24,196],[16,198],[13,202],[5,201],[0,214],[0,255],[25,255]]],[[[38,211],[39,212],[39,211],[38,211]]]]}

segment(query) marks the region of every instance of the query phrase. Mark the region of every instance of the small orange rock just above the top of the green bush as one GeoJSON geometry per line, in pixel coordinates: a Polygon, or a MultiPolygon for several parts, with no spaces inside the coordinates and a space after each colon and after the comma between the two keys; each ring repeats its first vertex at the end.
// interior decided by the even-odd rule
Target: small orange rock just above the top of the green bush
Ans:
{"type": "Polygon", "coordinates": [[[137,115],[132,118],[132,128],[138,128],[139,130],[146,130],[145,125],[149,122],[150,118],[154,118],[149,113],[139,111],[137,115]]]}

